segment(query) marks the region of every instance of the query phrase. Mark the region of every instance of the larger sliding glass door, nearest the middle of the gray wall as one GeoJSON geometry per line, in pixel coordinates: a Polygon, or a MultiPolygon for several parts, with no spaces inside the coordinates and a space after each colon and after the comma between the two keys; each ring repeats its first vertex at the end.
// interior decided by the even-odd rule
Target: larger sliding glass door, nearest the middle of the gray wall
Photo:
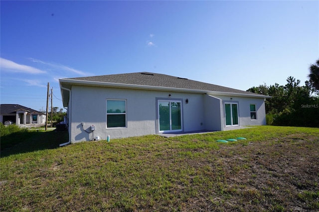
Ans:
{"type": "Polygon", "coordinates": [[[181,131],[181,101],[159,100],[160,132],[181,131]]]}

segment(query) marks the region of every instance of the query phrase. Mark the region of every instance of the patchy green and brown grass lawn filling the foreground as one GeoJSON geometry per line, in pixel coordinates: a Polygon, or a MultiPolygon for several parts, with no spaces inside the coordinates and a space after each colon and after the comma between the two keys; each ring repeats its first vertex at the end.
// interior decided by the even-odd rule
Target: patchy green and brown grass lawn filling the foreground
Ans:
{"type": "Polygon", "coordinates": [[[32,133],[1,153],[0,211],[319,210],[316,128],[260,126],[62,148],[48,144],[59,136],[66,142],[65,132],[32,133]],[[236,137],[247,140],[216,142],[236,137]],[[34,151],[17,151],[30,142],[34,151]]]}

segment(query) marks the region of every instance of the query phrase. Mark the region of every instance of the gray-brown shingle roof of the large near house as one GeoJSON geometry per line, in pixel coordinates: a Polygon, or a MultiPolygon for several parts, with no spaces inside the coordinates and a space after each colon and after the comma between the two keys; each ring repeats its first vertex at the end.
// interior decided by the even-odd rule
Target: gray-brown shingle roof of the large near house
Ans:
{"type": "MultiPolygon", "coordinates": [[[[68,78],[72,80],[92,81],[92,82],[108,82],[108,83],[120,83],[131,85],[145,85],[145,86],[157,86],[166,88],[181,88],[192,90],[204,90],[204,91],[216,91],[216,92],[228,92],[238,94],[257,95],[255,93],[228,88],[224,86],[209,84],[205,82],[199,82],[181,77],[175,77],[165,74],[150,73],[150,72],[137,72],[127,74],[111,74],[102,76],[89,76],[89,77],[76,77],[68,78]]],[[[263,96],[263,95],[260,95],[263,96]]]]}

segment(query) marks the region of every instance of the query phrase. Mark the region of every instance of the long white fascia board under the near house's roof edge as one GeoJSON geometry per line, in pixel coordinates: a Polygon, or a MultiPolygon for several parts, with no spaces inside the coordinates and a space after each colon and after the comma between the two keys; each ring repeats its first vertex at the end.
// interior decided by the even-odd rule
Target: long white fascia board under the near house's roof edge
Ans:
{"type": "Polygon", "coordinates": [[[117,87],[117,88],[133,88],[133,89],[145,89],[145,90],[164,90],[164,91],[175,91],[183,93],[202,93],[208,95],[222,95],[222,96],[241,96],[241,97],[253,97],[253,98],[271,98],[271,96],[264,96],[259,94],[243,94],[243,93],[231,93],[231,92],[220,92],[220,91],[207,91],[207,90],[196,90],[187,88],[171,88],[151,85],[134,85],[134,84],[123,84],[114,82],[96,82],[86,80],[75,80],[75,79],[59,79],[61,83],[72,84],[72,85],[86,85],[86,86],[102,86],[102,87],[117,87]]]}

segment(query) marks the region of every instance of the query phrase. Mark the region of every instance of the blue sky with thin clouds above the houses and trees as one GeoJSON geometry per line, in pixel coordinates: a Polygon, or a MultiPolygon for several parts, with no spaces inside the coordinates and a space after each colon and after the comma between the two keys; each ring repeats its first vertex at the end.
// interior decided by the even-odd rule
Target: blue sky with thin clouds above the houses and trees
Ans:
{"type": "Polygon", "coordinates": [[[155,72],[247,90],[308,80],[319,1],[0,1],[0,103],[63,108],[59,78],[155,72]]]}

